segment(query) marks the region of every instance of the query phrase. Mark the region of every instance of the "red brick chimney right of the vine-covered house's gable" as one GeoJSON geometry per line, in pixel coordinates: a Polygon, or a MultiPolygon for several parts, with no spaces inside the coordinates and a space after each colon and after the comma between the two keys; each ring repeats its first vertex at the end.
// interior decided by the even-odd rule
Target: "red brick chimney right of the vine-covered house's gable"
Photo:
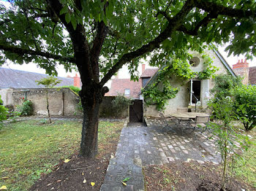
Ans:
{"type": "Polygon", "coordinates": [[[238,63],[233,65],[233,71],[242,78],[244,85],[248,84],[249,77],[249,63],[246,62],[246,59],[238,60],[238,63]]]}

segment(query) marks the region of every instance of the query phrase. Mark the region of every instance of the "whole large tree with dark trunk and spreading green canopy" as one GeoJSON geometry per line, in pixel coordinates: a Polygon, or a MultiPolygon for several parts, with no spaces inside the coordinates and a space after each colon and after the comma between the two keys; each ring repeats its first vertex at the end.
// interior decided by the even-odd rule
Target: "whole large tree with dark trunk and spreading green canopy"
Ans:
{"type": "Polygon", "coordinates": [[[124,64],[138,79],[140,58],[151,65],[187,62],[188,50],[230,42],[235,55],[256,55],[255,0],[18,0],[0,7],[1,62],[33,61],[56,74],[77,66],[84,122],[80,154],[97,153],[99,104],[105,83],[124,64]],[[100,71],[100,73],[99,73],[100,71]]]}

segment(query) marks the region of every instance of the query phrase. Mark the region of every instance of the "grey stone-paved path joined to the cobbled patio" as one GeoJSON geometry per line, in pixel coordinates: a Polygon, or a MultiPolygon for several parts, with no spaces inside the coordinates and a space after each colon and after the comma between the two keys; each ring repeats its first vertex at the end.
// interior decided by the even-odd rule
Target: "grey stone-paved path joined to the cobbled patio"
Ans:
{"type": "Polygon", "coordinates": [[[116,156],[110,160],[101,191],[144,190],[144,165],[162,165],[175,160],[220,162],[214,139],[208,139],[206,133],[182,136],[181,132],[165,132],[157,119],[146,122],[148,127],[143,123],[129,123],[121,131],[116,156]],[[124,186],[121,181],[127,177],[130,179],[124,186]]]}

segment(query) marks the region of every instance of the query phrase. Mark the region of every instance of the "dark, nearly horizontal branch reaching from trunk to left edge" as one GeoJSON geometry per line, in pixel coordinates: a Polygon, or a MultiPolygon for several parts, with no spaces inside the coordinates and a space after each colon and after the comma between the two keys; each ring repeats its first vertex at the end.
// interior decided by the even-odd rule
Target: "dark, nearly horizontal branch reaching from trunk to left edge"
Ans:
{"type": "Polygon", "coordinates": [[[49,52],[41,52],[41,51],[37,51],[37,50],[25,50],[25,49],[22,49],[20,47],[12,47],[12,46],[2,45],[2,44],[0,44],[0,50],[12,52],[12,53],[15,53],[15,54],[18,54],[18,55],[25,55],[25,54],[27,54],[27,55],[39,55],[39,56],[43,56],[45,58],[53,58],[53,59],[58,60],[58,61],[75,63],[75,58],[64,57],[62,55],[54,55],[54,54],[51,54],[49,52]]]}

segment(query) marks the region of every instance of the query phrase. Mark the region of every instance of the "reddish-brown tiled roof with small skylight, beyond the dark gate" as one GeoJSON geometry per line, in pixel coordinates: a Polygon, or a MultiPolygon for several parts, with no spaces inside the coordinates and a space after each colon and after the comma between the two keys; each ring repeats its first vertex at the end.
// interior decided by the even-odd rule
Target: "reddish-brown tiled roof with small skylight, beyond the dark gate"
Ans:
{"type": "Polygon", "coordinates": [[[125,95],[129,98],[139,98],[140,89],[142,87],[142,81],[131,81],[130,79],[112,79],[110,91],[105,96],[124,95],[125,89],[129,89],[129,95],[125,95]]]}

